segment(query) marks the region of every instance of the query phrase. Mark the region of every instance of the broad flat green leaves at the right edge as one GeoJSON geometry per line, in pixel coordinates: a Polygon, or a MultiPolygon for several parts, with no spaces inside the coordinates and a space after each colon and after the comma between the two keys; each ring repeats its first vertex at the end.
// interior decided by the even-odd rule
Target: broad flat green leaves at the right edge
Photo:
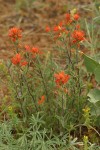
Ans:
{"type": "MultiPolygon", "coordinates": [[[[84,64],[87,68],[87,71],[94,74],[96,81],[100,83],[100,63],[98,62],[98,57],[94,57],[95,59],[92,59],[89,56],[84,55],[84,64]]],[[[95,124],[99,126],[100,121],[98,120],[100,117],[100,90],[96,88],[91,89],[87,96],[89,97],[88,100],[91,103],[91,115],[95,116],[95,124]]]]}

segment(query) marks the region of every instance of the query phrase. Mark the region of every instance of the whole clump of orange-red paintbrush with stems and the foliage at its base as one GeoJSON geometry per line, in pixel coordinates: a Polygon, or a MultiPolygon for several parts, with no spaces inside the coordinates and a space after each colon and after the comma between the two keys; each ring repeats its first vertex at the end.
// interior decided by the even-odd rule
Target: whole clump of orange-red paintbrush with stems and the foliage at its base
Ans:
{"type": "Polygon", "coordinates": [[[78,149],[83,144],[87,150],[89,139],[83,138],[85,132],[88,135],[91,129],[100,136],[92,127],[87,101],[81,50],[86,33],[80,19],[78,13],[69,12],[58,25],[46,27],[55,43],[51,51],[24,45],[22,30],[9,30],[14,51],[5,66],[10,102],[4,113],[12,124],[9,136],[17,140],[16,149],[78,149]]]}

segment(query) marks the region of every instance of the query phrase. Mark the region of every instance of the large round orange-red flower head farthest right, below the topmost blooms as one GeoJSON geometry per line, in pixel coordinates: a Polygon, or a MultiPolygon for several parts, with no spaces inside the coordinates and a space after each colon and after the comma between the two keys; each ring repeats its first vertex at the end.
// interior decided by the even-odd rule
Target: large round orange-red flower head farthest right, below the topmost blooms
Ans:
{"type": "Polygon", "coordinates": [[[72,37],[74,38],[74,43],[83,41],[85,39],[84,36],[85,36],[85,33],[84,31],[81,31],[81,30],[74,30],[74,32],[72,33],[72,37]]]}

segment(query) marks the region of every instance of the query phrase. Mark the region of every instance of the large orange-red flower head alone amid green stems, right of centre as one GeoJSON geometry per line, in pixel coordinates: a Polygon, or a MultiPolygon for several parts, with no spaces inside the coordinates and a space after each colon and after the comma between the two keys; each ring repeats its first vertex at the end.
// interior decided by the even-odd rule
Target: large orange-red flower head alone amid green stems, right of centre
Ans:
{"type": "Polygon", "coordinates": [[[70,75],[65,74],[63,71],[61,71],[58,74],[54,74],[54,77],[55,77],[55,82],[58,86],[66,84],[70,79],[70,75]]]}

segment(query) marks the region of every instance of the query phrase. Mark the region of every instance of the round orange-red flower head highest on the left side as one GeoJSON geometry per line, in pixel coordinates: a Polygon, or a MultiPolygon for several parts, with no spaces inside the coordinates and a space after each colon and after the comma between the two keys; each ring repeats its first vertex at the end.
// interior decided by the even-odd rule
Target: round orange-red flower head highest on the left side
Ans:
{"type": "Polygon", "coordinates": [[[13,27],[9,30],[8,35],[13,42],[16,42],[16,40],[18,40],[22,37],[22,30],[17,27],[13,27]]]}

